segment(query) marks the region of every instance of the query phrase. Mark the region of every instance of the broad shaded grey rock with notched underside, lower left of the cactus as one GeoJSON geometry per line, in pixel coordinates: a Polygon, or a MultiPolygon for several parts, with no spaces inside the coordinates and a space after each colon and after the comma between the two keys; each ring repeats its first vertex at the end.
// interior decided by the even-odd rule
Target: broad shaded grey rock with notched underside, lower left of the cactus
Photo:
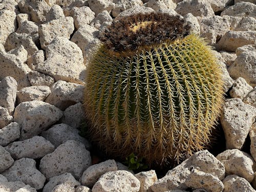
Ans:
{"type": "Polygon", "coordinates": [[[91,164],[90,152],[86,150],[84,144],[68,140],[59,145],[53,153],[44,156],[39,167],[47,179],[63,173],[71,173],[78,180],[91,164]]]}

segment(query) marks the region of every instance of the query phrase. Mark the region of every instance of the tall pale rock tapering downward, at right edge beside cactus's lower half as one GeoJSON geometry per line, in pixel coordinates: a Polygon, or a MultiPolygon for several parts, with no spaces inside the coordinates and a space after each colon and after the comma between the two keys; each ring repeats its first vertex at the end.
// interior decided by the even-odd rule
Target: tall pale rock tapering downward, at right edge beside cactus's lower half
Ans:
{"type": "Polygon", "coordinates": [[[223,105],[221,125],[226,138],[226,148],[242,148],[256,116],[256,109],[239,98],[227,99],[223,105]]]}

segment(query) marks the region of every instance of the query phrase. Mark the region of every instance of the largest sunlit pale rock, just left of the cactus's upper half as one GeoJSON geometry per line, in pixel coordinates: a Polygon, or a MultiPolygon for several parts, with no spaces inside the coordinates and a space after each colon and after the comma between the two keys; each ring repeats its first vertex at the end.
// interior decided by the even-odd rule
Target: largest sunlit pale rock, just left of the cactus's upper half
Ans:
{"type": "Polygon", "coordinates": [[[55,37],[46,49],[46,60],[36,71],[52,76],[55,81],[65,80],[84,84],[86,66],[80,48],[64,37],[55,37]]]}

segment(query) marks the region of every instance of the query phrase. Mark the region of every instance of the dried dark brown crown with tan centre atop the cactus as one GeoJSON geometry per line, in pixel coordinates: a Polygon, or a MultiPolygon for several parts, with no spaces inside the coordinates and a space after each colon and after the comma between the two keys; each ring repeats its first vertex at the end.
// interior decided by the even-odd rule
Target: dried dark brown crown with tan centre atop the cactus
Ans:
{"type": "Polygon", "coordinates": [[[112,51],[129,53],[139,50],[141,46],[184,37],[188,35],[189,29],[180,16],[140,13],[115,21],[100,35],[100,40],[112,51]]]}

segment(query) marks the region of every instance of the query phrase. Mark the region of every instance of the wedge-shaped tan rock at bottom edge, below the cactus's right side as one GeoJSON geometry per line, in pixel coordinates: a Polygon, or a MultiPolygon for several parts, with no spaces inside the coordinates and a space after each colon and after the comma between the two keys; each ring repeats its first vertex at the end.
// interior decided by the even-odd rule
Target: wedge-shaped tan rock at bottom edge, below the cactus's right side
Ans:
{"type": "Polygon", "coordinates": [[[192,169],[185,184],[191,188],[204,188],[208,192],[222,192],[224,185],[221,180],[211,174],[192,169]]]}

